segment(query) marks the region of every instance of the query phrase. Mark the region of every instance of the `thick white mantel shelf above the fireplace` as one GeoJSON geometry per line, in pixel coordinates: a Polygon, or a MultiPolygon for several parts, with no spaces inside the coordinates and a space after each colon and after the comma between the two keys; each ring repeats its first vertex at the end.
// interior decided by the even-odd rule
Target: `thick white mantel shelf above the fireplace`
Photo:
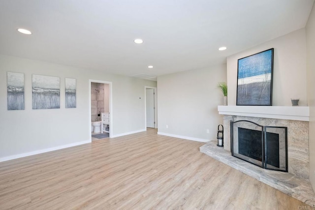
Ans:
{"type": "Polygon", "coordinates": [[[308,106],[218,106],[220,115],[310,121],[308,106]]]}

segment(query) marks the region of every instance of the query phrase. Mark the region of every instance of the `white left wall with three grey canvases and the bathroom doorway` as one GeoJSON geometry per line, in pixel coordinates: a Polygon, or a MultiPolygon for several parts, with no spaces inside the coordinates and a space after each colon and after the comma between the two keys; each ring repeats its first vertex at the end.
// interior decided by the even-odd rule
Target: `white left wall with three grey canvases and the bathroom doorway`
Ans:
{"type": "Polygon", "coordinates": [[[145,129],[145,101],[139,97],[156,82],[0,55],[0,161],[89,142],[89,79],[113,84],[114,136],[145,129]],[[7,110],[7,71],[25,74],[25,110],[7,110]],[[60,109],[32,110],[32,74],[60,77],[60,109]],[[65,77],[76,79],[77,108],[64,108],[65,77]]]}

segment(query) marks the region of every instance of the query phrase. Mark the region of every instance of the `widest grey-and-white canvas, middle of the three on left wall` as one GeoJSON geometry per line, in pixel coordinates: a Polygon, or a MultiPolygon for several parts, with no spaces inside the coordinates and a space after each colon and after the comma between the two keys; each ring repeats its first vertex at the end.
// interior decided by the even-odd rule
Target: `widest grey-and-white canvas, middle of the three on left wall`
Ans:
{"type": "Polygon", "coordinates": [[[32,75],[32,109],[60,108],[60,78],[32,75]]]}

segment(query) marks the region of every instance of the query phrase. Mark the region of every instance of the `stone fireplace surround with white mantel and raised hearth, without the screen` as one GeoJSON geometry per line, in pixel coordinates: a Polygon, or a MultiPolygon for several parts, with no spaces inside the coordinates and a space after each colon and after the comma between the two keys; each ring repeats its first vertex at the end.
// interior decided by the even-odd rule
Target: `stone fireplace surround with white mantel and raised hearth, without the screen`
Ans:
{"type": "Polygon", "coordinates": [[[309,107],[218,106],[223,116],[224,150],[210,141],[200,151],[310,206],[315,194],[309,181],[309,107]],[[264,126],[287,127],[288,173],[262,169],[233,157],[230,121],[250,120],[264,126]]]}

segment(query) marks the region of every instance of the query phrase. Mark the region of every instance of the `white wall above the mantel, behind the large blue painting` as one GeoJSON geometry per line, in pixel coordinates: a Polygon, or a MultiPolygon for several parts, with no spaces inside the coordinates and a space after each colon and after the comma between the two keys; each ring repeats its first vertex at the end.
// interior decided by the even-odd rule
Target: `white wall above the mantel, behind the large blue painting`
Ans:
{"type": "Polygon", "coordinates": [[[300,98],[306,106],[305,29],[296,30],[227,58],[229,105],[236,105],[237,60],[274,48],[273,106],[291,106],[291,98],[300,98]]]}

